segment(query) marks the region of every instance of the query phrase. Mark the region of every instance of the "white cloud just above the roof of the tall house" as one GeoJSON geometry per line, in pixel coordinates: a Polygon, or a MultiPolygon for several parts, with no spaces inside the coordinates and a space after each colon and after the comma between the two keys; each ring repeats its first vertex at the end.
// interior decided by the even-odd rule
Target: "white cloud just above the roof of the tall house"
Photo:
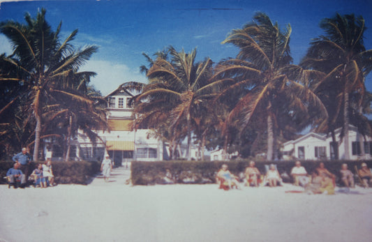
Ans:
{"type": "Polygon", "coordinates": [[[122,63],[110,61],[88,61],[81,70],[89,70],[97,73],[91,79],[91,84],[106,96],[124,82],[147,82],[146,77],[140,71],[133,70],[122,63]]]}

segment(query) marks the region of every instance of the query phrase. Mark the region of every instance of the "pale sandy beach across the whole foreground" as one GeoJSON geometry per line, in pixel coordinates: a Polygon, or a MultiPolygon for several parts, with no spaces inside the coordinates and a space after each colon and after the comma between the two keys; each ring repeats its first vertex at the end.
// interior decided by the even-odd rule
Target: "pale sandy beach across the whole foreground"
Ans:
{"type": "Polygon", "coordinates": [[[290,184],[0,186],[0,241],[371,241],[372,188],[307,195],[290,184]]]}

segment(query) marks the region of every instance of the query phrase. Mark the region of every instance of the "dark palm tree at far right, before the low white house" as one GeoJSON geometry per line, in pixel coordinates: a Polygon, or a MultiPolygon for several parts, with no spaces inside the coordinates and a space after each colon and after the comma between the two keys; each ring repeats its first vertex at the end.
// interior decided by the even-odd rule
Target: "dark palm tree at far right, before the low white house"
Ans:
{"type": "Polygon", "coordinates": [[[327,73],[314,90],[328,104],[331,114],[328,130],[342,127],[345,159],[349,159],[350,110],[362,111],[366,97],[364,80],[372,68],[372,50],[364,47],[366,27],[362,16],[336,14],[322,20],[320,27],[325,36],[311,42],[302,66],[327,73]]]}

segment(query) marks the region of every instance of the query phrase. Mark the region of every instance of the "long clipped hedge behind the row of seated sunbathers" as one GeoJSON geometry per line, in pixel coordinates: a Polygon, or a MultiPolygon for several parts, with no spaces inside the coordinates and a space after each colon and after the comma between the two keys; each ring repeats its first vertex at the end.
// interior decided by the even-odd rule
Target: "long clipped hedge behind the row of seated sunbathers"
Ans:
{"type": "MultiPolygon", "coordinates": [[[[321,161],[306,160],[302,161],[302,166],[305,167],[308,174],[312,174],[321,161]]],[[[339,178],[339,171],[343,163],[347,163],[349,169],[355,173],[355,165],[358,169],[362,162],[366,162],[369,167],[372,167],[372,160],[365,161],[345,161],[345,160],[325,160],[325,167],[339,178]]],[[[154,185],[156,183],[164,183],[166,169],[170,169],[175,183],[215,183],[216,174],[221,168],[221,165],[227,164],[228,169],[232,174],[241,175],[249,160],[239,161],[159,161],[159,162],[132,162],[132,182],[133,185],[154,185]]],[[[295,166],[295,160],[292,161],[256,161],[255,166],[258,167],[262,174],[265,174],[265,165],[276,164],[280,174],[290,174],[292,167],[295,166]]],[[[283,181],[289,182],[289,176],[283,176],[283,181]]]]}

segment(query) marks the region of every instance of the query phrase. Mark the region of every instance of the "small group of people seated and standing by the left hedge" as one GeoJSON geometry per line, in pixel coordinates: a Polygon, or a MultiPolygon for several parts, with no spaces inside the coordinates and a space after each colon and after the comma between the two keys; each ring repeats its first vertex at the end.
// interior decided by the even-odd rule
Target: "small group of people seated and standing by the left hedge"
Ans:
{"type": "Polygon", "coordinates": [[[36,186],[40,185],[40,188],[47,188],[47,186],[54,186],[54,175],[52,171],[52,162],[50,160],[45,161],[44,164],[38,164],[38,167],[29,174],[31,156],[27,152],[26,148],[22,149],[22,152],[17,153],[13,156],[13,167],[8,169],[6,176],[8,176],[9,185],[13,188],[17,188],[17,181],[20,182],[19,187],[24,188],[27,186],[29,176],[33,177],[36,186]]]}

